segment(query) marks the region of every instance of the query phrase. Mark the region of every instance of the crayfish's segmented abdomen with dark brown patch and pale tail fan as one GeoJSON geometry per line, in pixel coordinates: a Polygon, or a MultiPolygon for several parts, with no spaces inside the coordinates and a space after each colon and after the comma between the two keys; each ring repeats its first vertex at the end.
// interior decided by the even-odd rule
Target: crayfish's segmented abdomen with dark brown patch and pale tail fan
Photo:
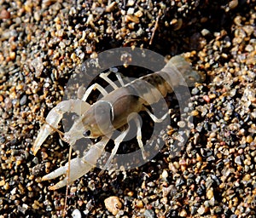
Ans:
{"type": "Polygon", "coordinates": [[[125,85],[130,93],[135,93],[144,105],[158,102],[167,93],[172,93],[177,86],[195,86],[204,80],[203,75],[195,72],[182,56],[172,57],[160,72],[154,72],[137,78],[125,85]]]}

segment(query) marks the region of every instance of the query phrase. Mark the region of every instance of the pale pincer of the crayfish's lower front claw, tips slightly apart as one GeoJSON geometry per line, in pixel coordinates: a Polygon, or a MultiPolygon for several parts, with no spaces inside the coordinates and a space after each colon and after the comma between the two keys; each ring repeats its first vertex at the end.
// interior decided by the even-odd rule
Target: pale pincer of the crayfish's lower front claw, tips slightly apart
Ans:
{"type": "Polygon", "coordinates": [[[68,163],[65,166],[62,166],[55,171],[49,173],[48,175],[44,175],[42,178],[43,181],[48,181],[55,179],[58,176],[65,175],[66,177],[59,181],[54,186],[49,186],[49,190],[56,190],[63,186],[70,185],[73,181],[76,181],[81,176],[85,175],[90,171],[90,169],[94,168],[94,165],[84,162],[83,158],[73,158],[70,162],[70,171],[68,175],[68,163]]]}

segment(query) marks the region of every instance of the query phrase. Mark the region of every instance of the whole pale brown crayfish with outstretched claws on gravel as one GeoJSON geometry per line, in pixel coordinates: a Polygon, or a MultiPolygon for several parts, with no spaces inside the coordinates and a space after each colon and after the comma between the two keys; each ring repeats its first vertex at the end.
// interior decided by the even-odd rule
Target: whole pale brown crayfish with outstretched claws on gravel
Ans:
{"type": "MultiPolygon", "coordinates": [[[[113,91],[108,92],[99,84],[95,83],[86,90],[82,100],[64,100],[55,106],[48,114],[46,123],[40,129],[38,137],[32,147],[33,153],[36,154],[45,139],[54,129],[58,128],[58,123],[66,112],[75,112],[79,118],[73,123],[72,128],[67,131],[63,140],[73,146],[76,141],[85,137],[101,140],[94,146],[90,146],[89,151],[84,153],[82,158],[73,158],[65,166],[55,169],[55,171],[45,175],[43,180],[51,180],[57,176],[64,175],[68,172],[64,180],[58,182],[49,189],[55,190],[66,186],[75,181],[82,175],[85,175],[90,169],[96,166],[96,162],[102,156],[105,146],[107,145],[113,131],[125,127],[129,120],[133,119],[137,124],[137,142],[143,152],[143,158],[146,154],[143,148],[141,123],[137,118],[137,113],[141,111],[148,112],[154,122],[162,122],[168,113],[162,118],[156,118],[153,113],[149,112],[146,106],[158,102],[160,98],[165,97],[167,93],[172,93],[172,89],[178,85],[186,83],[194,86],[196,82],[201,82],[202,77],[198,72],[192,70],[189,63],[182,56],[175,56],[168,61],[166,66],[160,72],[154,72],[144,77],[139,77],[131,83],[124,84],[122,78],[117,74],[121,87],[117,87],[109,77],[108,73],[100,75],[112,87],[113,91]],[[90,105],[85,100],[90,95],[91,90],[98,89],[103,97],[90,105]],[[69,169],[69,170],[68,170],[69,169]]],[[[121,132],[114,139],[114,147],[104,168],[108,169],[111,160],[116,154],[119,144],[127,135],[129,127],[121,132]]]]}

